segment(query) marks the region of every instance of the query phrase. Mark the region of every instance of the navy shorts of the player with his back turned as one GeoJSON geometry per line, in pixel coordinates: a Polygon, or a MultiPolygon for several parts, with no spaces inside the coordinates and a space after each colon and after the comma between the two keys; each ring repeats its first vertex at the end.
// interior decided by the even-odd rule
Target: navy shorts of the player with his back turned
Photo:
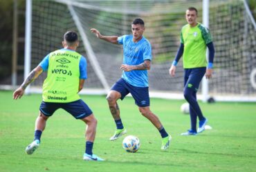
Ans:
{"type": "Polygon", "coordinates": [[[49,103],[42,101],[39,110],[45,116],[52,116],[53,113],[60,108],[67,111],[75,119],[82,119],[93,114],[91,109],[81,99],[71,103],[49,103]]]}

